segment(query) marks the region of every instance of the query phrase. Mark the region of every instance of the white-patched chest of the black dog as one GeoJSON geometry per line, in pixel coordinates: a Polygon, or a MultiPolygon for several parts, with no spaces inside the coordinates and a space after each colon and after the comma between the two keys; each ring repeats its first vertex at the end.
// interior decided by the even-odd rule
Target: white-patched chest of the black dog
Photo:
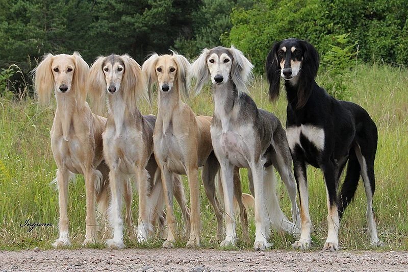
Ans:
{"type": "MultiPolygon", "coordinates": [[[[294,152],[297,145],[307,157],[324,150],[325,135],[322,128],[312,125],[292,126],[286,129],[286,136],[291,152],[294,152]]],[[[310,161],[315,160],[316,158],[310,159],[310,161]]]]}

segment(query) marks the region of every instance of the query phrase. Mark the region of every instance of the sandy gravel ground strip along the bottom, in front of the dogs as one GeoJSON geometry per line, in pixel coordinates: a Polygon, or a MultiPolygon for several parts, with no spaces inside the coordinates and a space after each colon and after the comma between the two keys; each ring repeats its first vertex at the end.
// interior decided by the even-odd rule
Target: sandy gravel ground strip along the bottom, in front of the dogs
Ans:
{"type": "Polygon", "coordinates": [[[192,249],[0,251],[0,271],[408,271],[408,252],[192,249]]]}

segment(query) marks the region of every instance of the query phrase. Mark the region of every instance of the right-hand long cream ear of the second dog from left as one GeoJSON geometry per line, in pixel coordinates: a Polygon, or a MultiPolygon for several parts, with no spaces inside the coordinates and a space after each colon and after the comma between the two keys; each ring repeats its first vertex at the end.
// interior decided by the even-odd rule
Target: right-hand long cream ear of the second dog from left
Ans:
{"type": "Polygon", "coordinates": [[[150,105],[150,92],[147,89],[142,67],[131,56],[120,56],[124,63],[124,74],[121,89],[126,91],[125,100],[130,107],[136,107],[139,97],[144,98],[150,105]]]}

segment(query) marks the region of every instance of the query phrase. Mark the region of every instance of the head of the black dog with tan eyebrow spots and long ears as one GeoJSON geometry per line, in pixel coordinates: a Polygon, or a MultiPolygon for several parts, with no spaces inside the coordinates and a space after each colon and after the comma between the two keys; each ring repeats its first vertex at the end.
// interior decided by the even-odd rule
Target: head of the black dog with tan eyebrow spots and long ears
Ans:
{"type": "Polygon", "coordinates": [[[266,58],[266,75],[269,81],[269,98],[279,96],[280,78],[298,87],[298,104],[307,102],[313,81],[319,69],[319,54],[307,41],[286,39],[276,42],[266,58]]]}

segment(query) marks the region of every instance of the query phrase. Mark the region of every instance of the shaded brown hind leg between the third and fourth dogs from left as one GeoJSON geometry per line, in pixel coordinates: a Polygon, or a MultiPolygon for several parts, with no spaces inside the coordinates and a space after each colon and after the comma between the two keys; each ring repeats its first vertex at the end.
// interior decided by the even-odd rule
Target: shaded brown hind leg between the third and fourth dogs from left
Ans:
{"type": "Polygon", "coordinates": [[[215,190],[215,176],[217,175],[219,168],[220,166],[217,158],[215,157],[214,153],[211,153],[201,171],[201,179],[204,185],[204,190],[206,192],[208,200],[213,206],[215,217],[217,219],[217,240],[221,240],[224,236],[224,228],[222,226],[222,212],[215,190]]]}

